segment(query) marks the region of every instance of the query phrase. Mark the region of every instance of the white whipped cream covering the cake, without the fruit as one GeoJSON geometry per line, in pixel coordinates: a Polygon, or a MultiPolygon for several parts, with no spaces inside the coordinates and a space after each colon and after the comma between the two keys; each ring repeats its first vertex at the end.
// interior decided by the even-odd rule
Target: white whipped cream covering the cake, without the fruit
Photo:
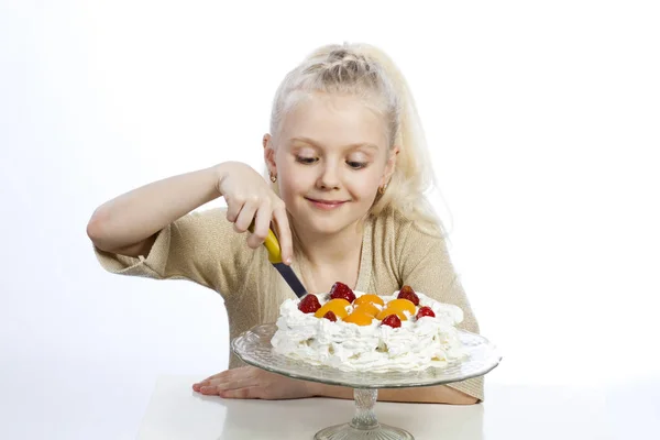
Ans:
{"type": "MultiPolygon", "coordinates": [[[[356,297],[364,295],[354,294],[356,297]]],[[[369,326],[319,319],[314,314],[298,310],[299,299],[287,299],[279,307],[277,331],[271,343],[277,353],[342,371],[419,371],[429,366],[442,367],[461,359],[464,352],[455,324],[463,321],[463,310],[419,292],[416,294],[418,307],[430,307],[436,317],[416,319],[404,311],[408,319],[403,320],[399,328],[383,326],[375,318],[369,326]]],[[[387,305],[397,295],[398,290],[380,297],[387,305]]],[[[327,302],[327,294],[317,297],[321,306],[327,302]]],[[[349,314],[353,308],[353,305],[346,306],[349,314]]]]}

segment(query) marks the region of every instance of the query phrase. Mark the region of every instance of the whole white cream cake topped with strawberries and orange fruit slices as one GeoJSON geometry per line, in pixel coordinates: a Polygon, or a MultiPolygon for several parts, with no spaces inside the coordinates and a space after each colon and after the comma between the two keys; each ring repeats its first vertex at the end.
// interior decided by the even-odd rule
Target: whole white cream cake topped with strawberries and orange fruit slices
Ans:
{"type": "Polygon", "coordinates": [[[276,353],[342,371],[420,371],[464,356],[463,311],[410,286],[392,295],[351,290],[286,299],[271,343],[276,353]]]}

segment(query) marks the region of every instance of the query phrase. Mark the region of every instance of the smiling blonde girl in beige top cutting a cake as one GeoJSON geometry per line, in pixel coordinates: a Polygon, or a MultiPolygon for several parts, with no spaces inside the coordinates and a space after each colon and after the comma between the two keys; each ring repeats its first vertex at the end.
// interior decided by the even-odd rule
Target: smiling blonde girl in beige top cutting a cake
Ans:
{"type": "MultiPolygon", "coordinates": [[[[279,86],[263,138],[271,184],[226,162],[119,196],[92,215],[87,233],[111,273],[185,278],[222,295],[235,338],[275,322],[295,297],[261,244],[268,228],[308,292],[342,282],[389,294],[411,285],[464,311],[479,332],[447,253],[440,221],[424,191],[432,182],[407,85],[381,51],[329,45],[311,53],[279,86]],[[195,211],[224,197],[227,208],[195,211]],[[245,232],[254,221],[254,233],[245,232]]],[[[196,392],[224,398],[352,398],[352,389],[287,378],[246,366],[196,392]]],[[[382,400],[474,404],[483,378],[443,386],[383,389],[382,400]]]]}

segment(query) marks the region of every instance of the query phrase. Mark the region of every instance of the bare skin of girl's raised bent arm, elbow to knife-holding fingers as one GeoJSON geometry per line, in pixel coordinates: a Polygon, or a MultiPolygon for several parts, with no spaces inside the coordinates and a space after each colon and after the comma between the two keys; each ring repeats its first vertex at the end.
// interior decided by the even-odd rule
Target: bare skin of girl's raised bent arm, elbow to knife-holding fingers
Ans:
{"type": "Polygon", "coordinates": [[[227,219],[237,232],[255,223],[248,245],[258,248],[271,221],[277,228],[282,257],[293,254],[290,229],[284,202],[253,168],[238,162],[200,169],[148,184],[121,195],[92,215],[87,234],[103,252],[138,257],[147,255],[165,227],[196,208],[224,197],[227,219]]]}

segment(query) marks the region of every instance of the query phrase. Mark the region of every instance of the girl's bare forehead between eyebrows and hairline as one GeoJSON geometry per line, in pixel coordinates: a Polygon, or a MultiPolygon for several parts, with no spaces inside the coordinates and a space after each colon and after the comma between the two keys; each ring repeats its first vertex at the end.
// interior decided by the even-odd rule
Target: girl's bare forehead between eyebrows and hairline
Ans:
{"type": "Polygon", "coordinates": [[[305,138],[324,146],[369,143],[387,147],[384,118],[354,96],[305,95],[284,116],[280,135],[286,143],[305,138]]]}

